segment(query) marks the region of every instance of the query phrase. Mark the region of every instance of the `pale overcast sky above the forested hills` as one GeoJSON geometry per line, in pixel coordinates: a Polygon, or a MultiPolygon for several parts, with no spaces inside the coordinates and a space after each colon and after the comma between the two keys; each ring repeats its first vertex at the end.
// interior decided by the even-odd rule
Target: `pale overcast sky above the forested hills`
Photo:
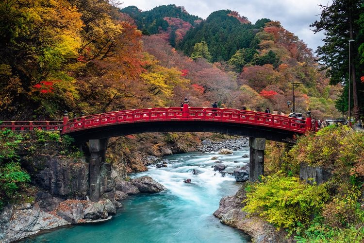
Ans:
{"type": "Polygon", "coordinates": [[[320,18],[318,4],[331,4],[332,0],[123,0],[120,8],[137,6],[142,11],[160,5],[175,4],[184,6],[192,15],[202,18],[222,9],[237,11],[240,16],[248,17],[253,24],[260,18],[278,20],[284,29],[294,33],[313,51],[322,46],[323,33],[314,34],[310,24],[320,18]]]}

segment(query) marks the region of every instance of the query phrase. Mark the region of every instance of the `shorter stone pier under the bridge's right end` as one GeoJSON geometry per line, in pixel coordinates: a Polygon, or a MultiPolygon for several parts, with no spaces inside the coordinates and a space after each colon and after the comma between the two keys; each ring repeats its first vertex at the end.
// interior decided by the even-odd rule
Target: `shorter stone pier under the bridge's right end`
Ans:
{"type": "Polygon", "coordinates": [[[256,181],[264,175],[264,138],[249,138],[249,181],[256,181]]]}

